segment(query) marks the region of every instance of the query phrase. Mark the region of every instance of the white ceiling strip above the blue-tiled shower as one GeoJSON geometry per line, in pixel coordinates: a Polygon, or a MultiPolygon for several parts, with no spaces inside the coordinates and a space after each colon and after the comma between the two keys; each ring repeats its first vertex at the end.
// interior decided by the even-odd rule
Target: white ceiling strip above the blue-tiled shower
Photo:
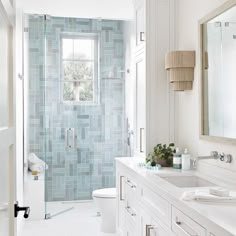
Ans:
{"type": "Polygon", "coordinates": [[[24,12],[52,16],[132,19],[132,0],[23,0],[24,12]]]}

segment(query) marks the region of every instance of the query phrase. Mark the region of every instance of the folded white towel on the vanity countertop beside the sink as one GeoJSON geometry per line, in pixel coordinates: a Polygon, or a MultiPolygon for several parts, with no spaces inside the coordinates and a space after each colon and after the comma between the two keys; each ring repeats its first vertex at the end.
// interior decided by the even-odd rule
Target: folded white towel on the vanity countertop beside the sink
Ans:
{"type": "Polygon", "coordinates": [[[209,191],[204,190],[194,190],[184,192],[182,196],[182,200],[184,201],[204,201],[204,202],[227,202],[227,203],[236,203],[236,194],[231,193],[228,197],[218,197],[209,193],[209,191]]]}

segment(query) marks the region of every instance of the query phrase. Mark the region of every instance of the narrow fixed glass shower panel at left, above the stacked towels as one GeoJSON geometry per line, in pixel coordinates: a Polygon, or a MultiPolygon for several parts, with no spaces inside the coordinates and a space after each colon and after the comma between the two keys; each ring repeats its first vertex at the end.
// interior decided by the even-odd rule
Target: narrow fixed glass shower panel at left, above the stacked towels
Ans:
{"type": "MultiPolygon", "coordinates": [[[[24,17],[24,164],[34,153],[47,162],[45,155],[45,24],[42,15],[24,17]]],[[[30,174],[24,172],[25,178],[30,174]]],[[[41,175],[40,179],[45,179],[41,175]]],[[[27,181],[27,180],[26,180],[27,181]]]]}

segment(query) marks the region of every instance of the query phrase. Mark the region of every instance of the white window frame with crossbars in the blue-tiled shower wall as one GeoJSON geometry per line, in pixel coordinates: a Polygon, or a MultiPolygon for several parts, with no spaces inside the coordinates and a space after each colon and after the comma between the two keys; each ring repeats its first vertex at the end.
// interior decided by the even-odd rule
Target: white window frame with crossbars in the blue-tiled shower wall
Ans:
{"type": "MultiPolygon", "coordinates": [[[[100,40],[98,37],[98,34],[95,33],[75,33],[75,32],[63,32],[60,35],[60,78],[61,78],[61,83],[60,83],[60,97],[61,101],[64,104],[68,105],[97,105],[100,102],[100,96],[99,96],[99,91],[100,91],[100,86],[99,86],[99,72],[100,72],[100,67],[99,67],[99,61],[100,61],[100,51],[99,51],[99,45],[100,45],[100,40]],[[79,60],[79,59],[73,59],[73,60],[66,60],[63,59],[63,39],[90,39],[94,40],[94,59],[93,60],[79,60]],[[64,84],[65,83],[73,83],[73,82],[78,82],[78,81],[85,81],[85,80],[65,80],[64,79],[64,67],[63,67],[63,62],[64,61],[87,61],[87,62],[93,62],[94,63],[94,74],[93,74],[93,100],[91,101],[66,101],[64,100],[64,84]]],[[[87,80],[86,80],[87,81],[87,80]]]]}

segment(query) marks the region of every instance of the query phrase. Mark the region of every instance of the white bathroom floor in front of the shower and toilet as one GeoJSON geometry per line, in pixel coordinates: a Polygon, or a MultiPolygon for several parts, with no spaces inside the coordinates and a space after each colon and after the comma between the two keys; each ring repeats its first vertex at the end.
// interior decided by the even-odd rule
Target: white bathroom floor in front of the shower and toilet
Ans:
{"type": "Polygon", "coordinates": [[[100,233],[100,217],[93,202],[68,204],[71,206],[72,210],[52,219],[27,221],[20,236],[108,236],[100,233]]]}

